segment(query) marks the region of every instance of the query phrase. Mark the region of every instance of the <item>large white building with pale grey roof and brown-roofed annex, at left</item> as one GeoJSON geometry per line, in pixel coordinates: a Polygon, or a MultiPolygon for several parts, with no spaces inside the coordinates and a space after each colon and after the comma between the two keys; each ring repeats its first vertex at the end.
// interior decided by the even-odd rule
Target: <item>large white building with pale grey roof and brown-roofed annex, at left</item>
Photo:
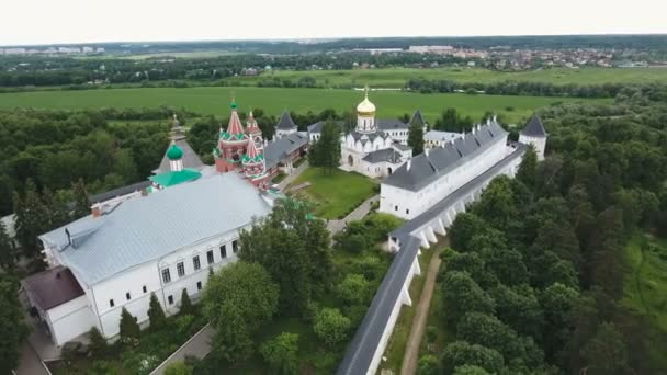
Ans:
{"type": "Polygon", "coordinates": [[[49,270],[23,285],[57,345],[91,327],[114,338],[123,307],[147,323],[151,293],[168,314],[183,289],[196,299],[208,269],[236,261],[239,231],[270,209],[236,173],[133,197],[39,236],[49,270]]]}

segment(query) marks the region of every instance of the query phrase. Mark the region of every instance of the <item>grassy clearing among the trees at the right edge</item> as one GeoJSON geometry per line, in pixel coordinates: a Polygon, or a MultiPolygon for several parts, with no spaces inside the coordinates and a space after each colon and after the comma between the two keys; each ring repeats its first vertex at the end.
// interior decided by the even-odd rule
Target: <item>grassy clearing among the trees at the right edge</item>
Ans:
{"type": "Polygon", "coordinates": [[[625,260],[622,304],[648,318],[654,329],[646,338],[651,356],[656,367],[667,368],[667,240],[637,232],[625,247],[625,260]],[[648,248],[643,251],[644,236],[648,248]]]}

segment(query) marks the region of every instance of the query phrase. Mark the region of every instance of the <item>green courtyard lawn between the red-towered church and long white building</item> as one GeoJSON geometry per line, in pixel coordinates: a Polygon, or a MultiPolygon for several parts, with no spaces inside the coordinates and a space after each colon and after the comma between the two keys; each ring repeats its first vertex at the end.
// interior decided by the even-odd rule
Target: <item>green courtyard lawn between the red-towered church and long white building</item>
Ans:
{"type": "Polygon", "coordinates": [[[373,196],[376,182],[359,173],[348,173],[335,169],[324,174],[319,168],[306,169],[292,186],[309,182],[310,186],[298,191],[315,204],[315,216],[336,219],[347,215],[352,208],[373,196]]]}

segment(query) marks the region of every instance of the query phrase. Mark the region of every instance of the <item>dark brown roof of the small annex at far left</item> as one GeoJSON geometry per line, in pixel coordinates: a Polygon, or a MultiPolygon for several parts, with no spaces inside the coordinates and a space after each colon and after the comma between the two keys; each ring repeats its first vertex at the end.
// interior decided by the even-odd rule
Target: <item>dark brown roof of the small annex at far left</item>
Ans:
{"type": "Polygon", "coordinates": [[[33,302],[43,310],[83,295],[83,289],[71,271],[61,265],[27,276],[22,283],[33,302]]]}

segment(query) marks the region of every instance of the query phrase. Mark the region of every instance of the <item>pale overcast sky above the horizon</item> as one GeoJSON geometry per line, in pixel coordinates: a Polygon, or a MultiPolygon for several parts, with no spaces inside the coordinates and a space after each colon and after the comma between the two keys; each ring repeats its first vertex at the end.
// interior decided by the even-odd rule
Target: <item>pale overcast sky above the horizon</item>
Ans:
{"type": "Polygon", "coordinates": [[[4,0],[0,45],[667,33],[667,0],[4,0]]]}

